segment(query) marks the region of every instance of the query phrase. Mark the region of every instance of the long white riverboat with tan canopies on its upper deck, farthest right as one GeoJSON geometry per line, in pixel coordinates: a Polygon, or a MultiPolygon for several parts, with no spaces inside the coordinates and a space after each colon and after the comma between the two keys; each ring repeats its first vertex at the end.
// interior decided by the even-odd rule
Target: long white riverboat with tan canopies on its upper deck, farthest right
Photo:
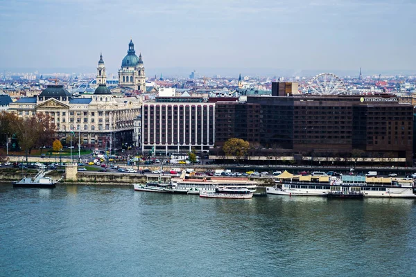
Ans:
{"type": "Polygon", "coordinates": [[[273,195],[301,195],[324,197],[416,197],[413,179],[345,175],[337,177],[313,177],[293,175],[281,179],[276,186],[267,188],[273,195]]]}

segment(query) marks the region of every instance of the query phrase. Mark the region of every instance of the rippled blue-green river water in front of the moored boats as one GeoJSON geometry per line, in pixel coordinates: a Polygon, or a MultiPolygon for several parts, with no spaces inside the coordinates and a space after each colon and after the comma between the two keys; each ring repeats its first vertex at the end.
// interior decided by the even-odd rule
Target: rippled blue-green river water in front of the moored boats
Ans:
{"type": "Polygon", "coordinates": [[[0,185],[0,276],[412,276],[413,199],[0,185]]]}

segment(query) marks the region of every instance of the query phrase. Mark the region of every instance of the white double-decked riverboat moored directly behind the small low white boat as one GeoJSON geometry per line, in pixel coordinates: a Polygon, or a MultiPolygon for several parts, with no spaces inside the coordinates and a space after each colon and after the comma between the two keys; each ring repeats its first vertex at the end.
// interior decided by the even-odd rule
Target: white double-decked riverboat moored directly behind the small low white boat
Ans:
{"type": "Polygon", "coordinates": [[[172,193],[200,194],[200,191],[214,192],[216,188],[247,188],[254,193],[257,182],[245,177],[205,177],[194,178],[182,173],[179,178],[172,178],[172,186],[166,190],[172,193]]]}

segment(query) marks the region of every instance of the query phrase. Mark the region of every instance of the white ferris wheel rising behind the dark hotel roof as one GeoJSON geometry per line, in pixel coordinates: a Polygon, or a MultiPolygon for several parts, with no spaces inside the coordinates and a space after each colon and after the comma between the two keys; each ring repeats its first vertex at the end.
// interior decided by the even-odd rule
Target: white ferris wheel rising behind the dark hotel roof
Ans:
{"type": "Polygon", "coordinates": [[[320,73],[313,77],[306,88],[312,94],[347,94],[347,87],[341,78],[333,73],[320,73]]]}

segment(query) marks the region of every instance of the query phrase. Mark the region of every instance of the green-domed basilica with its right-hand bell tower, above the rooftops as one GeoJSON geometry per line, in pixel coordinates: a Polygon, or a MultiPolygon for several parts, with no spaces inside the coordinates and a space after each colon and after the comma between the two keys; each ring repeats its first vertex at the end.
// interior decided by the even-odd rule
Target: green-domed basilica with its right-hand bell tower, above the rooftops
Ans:
{"type": "Polygon", "coordinates": [[[130,87],[130,89],[137,91],[146,91],[143,60],[141,60],[141,54],[137,57],[135,44],[131,39],[128,44],[127,55],[121,62],[121,69],[119,69],[119,86],[130,87]]]}

